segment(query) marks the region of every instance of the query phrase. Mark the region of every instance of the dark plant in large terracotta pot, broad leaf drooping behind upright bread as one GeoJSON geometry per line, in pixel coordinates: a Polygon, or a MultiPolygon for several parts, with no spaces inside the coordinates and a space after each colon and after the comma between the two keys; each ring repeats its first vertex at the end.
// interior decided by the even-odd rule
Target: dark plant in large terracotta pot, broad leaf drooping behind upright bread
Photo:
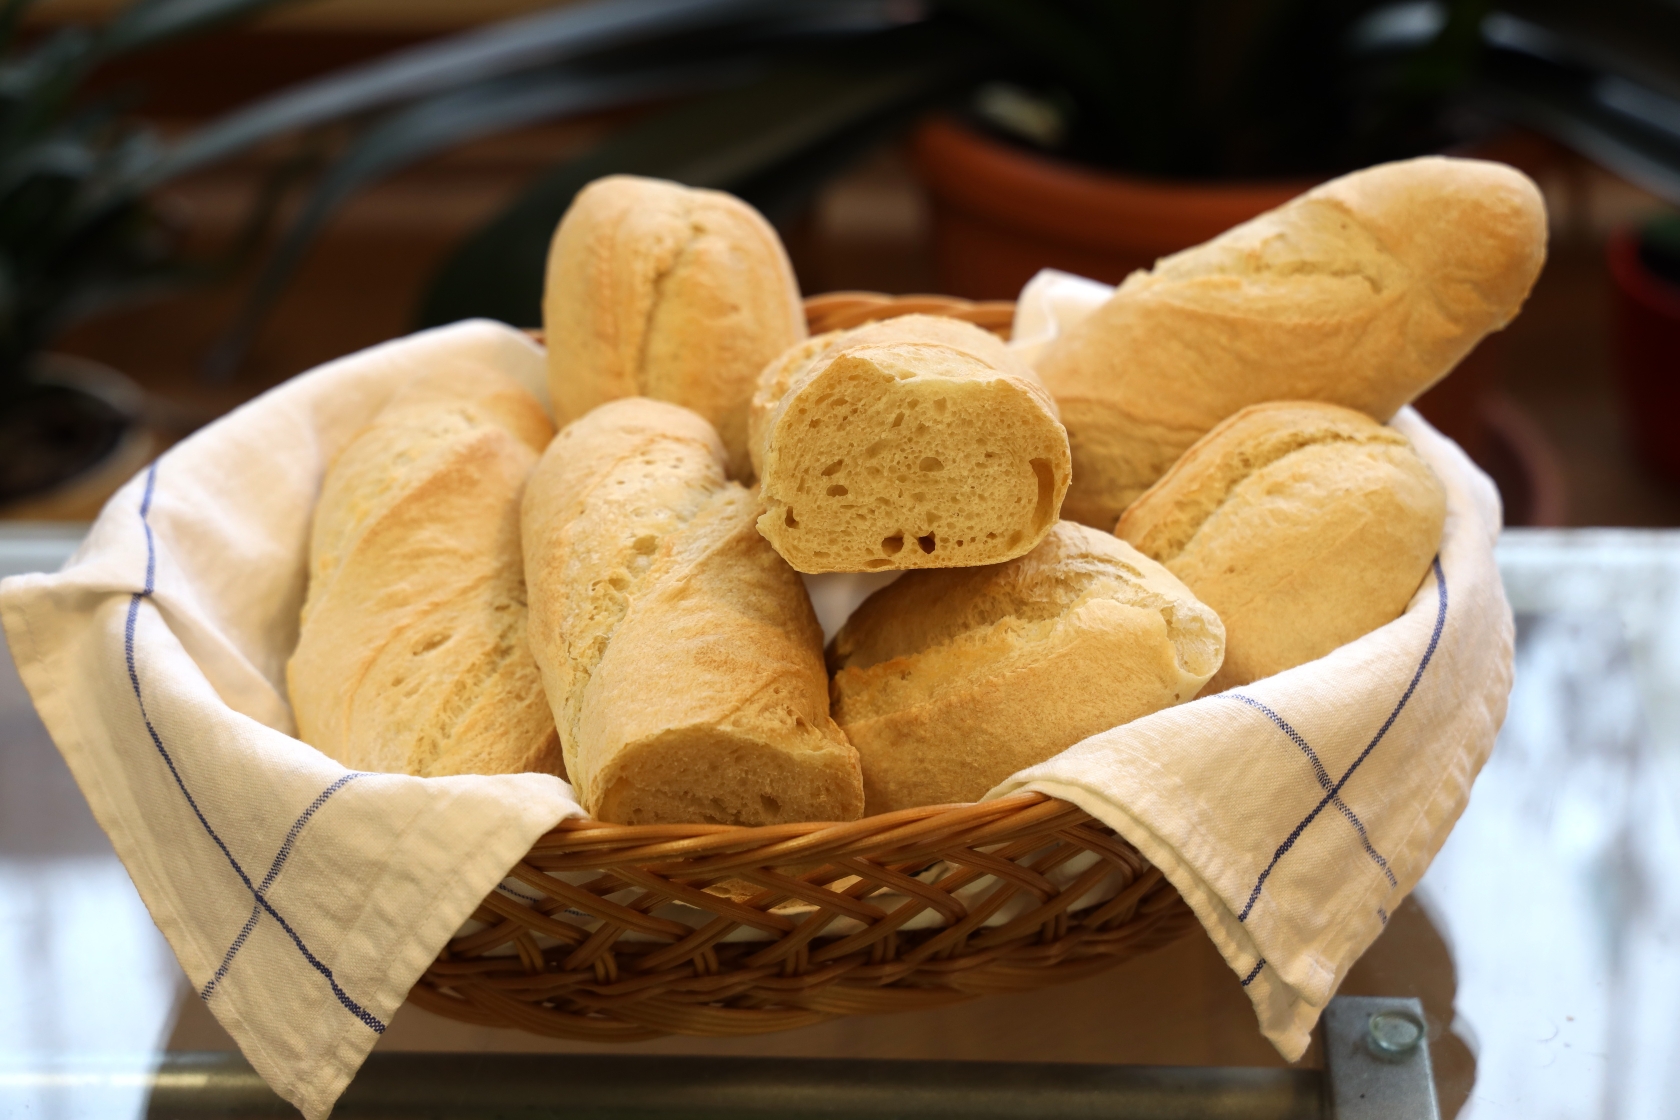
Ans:
{"type": "MultiPolygon", "coordinates": [[[[610,138],[534,183],[460,245],[420,311],[425,324],[482,314],[536,322],[548,235],[596,175],[637,171],[731,190],[773,218],[803,201],[825,134],[880,136],[929,104],[1058,158],[1132,173],[1300,176],[1445,146],[1443,107],[1475,74],[1487,0],[939,0],[853,5],[899,12],[815,59],[771,69],[610,138]],[[823,106],[880,76],[907,89],[874,128],[823,106]],[[827,81],[832,89],[818,91],[827,81]],[[796,133],[798,144],[766,143],[796,133]],[[684,143],[684,141],[694,141],[684,143]],[[719,163],[707,149],[751,151],[719,163]]],[[[853,153],[855,154],[855,153],[853,153]]],[[[832,170],[832,168],[830,168],[832,170]]]]}

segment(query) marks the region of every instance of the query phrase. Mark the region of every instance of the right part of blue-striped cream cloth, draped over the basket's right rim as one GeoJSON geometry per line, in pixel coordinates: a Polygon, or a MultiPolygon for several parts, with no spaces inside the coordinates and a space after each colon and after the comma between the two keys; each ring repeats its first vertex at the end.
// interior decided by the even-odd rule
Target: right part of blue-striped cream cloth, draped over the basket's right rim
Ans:
{"type": "MultiPolygon", "coordinates": [[[[1040,272],[1016,329],[1043,346],[1104,292],[1040,272]]],[[[1499,492],[1415,410],[1391,423],[1446,487],[1441,551],[1404,615],[1317,662],[1092,735],[986,794],[1072,801],[1136,845],[1290,1061],[1463,813],[1510,695],[1499,492]]]]}

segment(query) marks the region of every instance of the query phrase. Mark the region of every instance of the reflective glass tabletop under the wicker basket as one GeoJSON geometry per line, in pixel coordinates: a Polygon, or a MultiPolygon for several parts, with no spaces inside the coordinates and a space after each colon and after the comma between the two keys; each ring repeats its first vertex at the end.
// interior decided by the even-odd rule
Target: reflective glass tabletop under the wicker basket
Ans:
{"type": "MultiPolygon", "coordinates": [[[[0,526],[0,574],[55,568],[77,537],[0,526]]],[[[1680,1033],[1668,1026],[1680,996],[1680,532],[1510,531],[1500,568],[1517,611],[1505,729],[1463,819],[1342,992],[1421,1002],[1443,1117],[1680,1117],[1680,1033]]],[[[0,992],[0,1117],[141,1115],[158,1055],[232,1049],[10,657],[0,992]]],[[[1201,935],[1080,984],[736,1039],[568,1043],[407,1006],[376,1055],[420,1051],[1284,1065],[1201,935]]],[[[192,1061],[203,1060],[166,1068],[190,1073],[192,1061]]],[[[1302,1068],[1319,1066],[1315,1044],[1302,1068]]]]}

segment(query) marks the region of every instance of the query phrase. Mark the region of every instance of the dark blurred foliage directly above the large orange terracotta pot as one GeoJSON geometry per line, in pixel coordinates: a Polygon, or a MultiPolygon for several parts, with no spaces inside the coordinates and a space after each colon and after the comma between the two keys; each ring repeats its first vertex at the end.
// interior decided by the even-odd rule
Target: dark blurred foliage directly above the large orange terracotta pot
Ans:
{"type": "Polygon", "coordinates": [[[1094,166],[1173,178],[1337,173],[1457,139],[1487,0],[944,0],[1062,119],[995,129],[1094,166]]]}

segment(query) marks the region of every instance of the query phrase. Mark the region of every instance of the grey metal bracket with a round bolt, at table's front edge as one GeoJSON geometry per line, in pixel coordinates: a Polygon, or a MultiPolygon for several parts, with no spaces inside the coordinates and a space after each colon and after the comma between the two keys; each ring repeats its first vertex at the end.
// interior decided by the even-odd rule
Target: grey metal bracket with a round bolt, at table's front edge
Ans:
{"type": "Polygon", "coordinates": [[[1324,1011],[1334,1120],[1440,1120],[1430,1031],[1416,999],[1337,996],[1324,1011]]]}

